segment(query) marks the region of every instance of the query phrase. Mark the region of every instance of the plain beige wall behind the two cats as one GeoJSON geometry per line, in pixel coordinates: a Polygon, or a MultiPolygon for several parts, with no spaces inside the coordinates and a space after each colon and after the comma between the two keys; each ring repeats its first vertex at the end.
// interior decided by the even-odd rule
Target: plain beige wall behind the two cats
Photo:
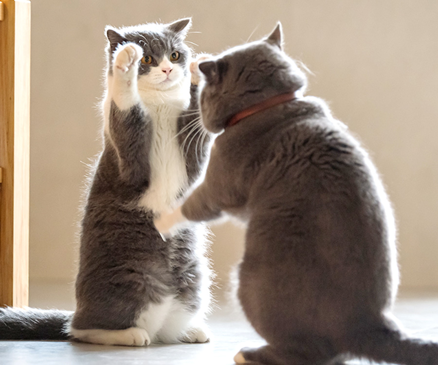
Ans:
{"type": "MultiPolygon", "coordinates": [[[[438,2],[34,0],[31,280],[73,281],[85,164],[98,152],[106,24],[192,16],[197,51],[217,53],[284,26],[310,92],[371,151],[399,224],[402,284],[438,290],[438,2]]],[[[243,232],[216,227],[219,280],[243,232]]]]}

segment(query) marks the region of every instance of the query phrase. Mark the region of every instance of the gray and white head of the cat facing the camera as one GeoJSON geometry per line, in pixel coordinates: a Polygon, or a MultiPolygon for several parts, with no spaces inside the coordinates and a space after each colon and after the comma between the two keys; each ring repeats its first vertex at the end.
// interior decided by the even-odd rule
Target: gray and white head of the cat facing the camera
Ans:
{"type": "Polygon", "coordinates": [[[148,23],[125,28],[107,26],[109,74],[112,73],[114,51],[131,42],[143,48],[138,69],[139,89],[167,90],[175,86],[188,73],[191,50],[184,39],[190,26],[190,18],[170,24],[148,23]]]}

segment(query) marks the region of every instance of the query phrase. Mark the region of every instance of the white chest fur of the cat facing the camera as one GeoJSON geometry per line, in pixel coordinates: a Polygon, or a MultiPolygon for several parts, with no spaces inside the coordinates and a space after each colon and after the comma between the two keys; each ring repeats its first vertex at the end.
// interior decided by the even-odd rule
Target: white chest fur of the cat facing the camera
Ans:
{"type": "Polygon", "coordinates": [[[175,105],[146,105],[153,123],[149,162],[150,184],[139,206],[160,214],[168,210],[187,184],[183,152],[179,146],[177,120],[182,111],[175,105]]]}

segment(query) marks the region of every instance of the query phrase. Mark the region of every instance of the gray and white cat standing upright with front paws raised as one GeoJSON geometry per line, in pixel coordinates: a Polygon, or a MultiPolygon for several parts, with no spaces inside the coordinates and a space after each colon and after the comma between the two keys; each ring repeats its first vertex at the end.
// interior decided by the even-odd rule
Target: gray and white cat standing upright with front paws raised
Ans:
{"type": "Polygon", "coordinates": [[[107,28],[103,151],[80,235],[74,313],[0,310],[0,339],[108,345],[206,342],[209,268],[203,225],[164,241],[153,219],[181,198],[208,158],[189,18],[107,28]],[[189,71],[192,71],[190,76],[189,71]]]}

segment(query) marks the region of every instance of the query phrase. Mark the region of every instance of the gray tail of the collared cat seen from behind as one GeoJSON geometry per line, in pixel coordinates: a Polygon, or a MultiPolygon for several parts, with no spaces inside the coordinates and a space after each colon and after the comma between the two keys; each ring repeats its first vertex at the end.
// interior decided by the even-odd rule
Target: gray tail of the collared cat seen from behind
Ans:
{"type": "Polygon", "coordinates": [[[353,336],[350,353],[376,362],[438,365],[438,343],[407,336],[399,329],[381,328],[353,336]]]}

